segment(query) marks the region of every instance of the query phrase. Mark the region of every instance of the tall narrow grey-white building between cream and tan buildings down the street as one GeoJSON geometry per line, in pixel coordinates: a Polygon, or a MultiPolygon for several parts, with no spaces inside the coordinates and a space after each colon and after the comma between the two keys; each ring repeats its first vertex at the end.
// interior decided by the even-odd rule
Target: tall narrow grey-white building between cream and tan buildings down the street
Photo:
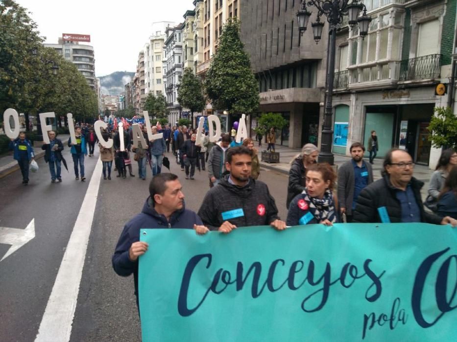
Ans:
{"type": "Polygon", "coordinates": [[[168,119],[170,123],[176,122],[181,117],[182,107],[179,105],[178,88],[183,74],[183,38],[180,23],[169,26],[165,30],[164,43],[164,81],[165,93],[168,103],[168,119]]]}

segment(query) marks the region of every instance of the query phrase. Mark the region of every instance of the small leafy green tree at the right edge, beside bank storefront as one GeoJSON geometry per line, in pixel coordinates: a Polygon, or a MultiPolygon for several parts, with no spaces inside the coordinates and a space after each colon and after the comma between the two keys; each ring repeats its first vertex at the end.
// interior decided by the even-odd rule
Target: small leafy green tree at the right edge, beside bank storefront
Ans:
{"type": "Polygon", "coordinates": [[[433,147],[445,149],[457,148],[457,116],[451,107],[435,107],[435,115],[430,120],[429,140],[433,147]]]}

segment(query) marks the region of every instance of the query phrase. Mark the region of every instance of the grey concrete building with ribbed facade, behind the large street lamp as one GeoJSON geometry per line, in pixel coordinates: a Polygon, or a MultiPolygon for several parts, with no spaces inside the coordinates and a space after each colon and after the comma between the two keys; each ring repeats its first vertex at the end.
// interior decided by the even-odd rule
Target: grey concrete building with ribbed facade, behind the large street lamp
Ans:
{"type": "MultiPolygon", "coordinates": [[[[260,89],[259,112],[277,112],[289,122],[276,131],[276,143],[320,147],[328,24],[316,44],[312,32],[298,32],[300,1],[243,1],[241,40],[251,59],[260,89]]],[[[315,21],[314,11],[311,21],[315,21]]],[[[257,126],[250,118],[251,135],[257,126]]]]}

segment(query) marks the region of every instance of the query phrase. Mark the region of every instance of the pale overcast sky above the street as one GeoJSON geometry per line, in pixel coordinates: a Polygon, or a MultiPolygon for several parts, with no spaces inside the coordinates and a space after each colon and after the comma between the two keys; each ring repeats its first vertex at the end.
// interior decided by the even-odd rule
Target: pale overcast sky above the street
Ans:
{"type": "Polygon", "coordinates": [[[96,76],[136,71],[138,53],[156,21],[184,21],[193,0],[16,0],[31,12],[46,43],[62,33],[91,35],[96,76]]]}

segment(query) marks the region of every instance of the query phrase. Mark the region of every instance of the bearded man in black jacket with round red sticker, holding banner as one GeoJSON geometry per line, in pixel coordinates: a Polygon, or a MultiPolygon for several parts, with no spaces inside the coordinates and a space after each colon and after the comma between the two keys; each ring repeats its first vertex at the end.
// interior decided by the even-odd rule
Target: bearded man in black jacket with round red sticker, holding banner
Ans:
{"type": "Polygon", "coordinates": [[[279,218],[266,184],[250,177],[251,151],[244,146],[229,149],[225,167],[230,174],[207,192],[198,211],[203,224],[223,233],[241,226],[271,225],[285,229],[286,222],[279,218]]]}

